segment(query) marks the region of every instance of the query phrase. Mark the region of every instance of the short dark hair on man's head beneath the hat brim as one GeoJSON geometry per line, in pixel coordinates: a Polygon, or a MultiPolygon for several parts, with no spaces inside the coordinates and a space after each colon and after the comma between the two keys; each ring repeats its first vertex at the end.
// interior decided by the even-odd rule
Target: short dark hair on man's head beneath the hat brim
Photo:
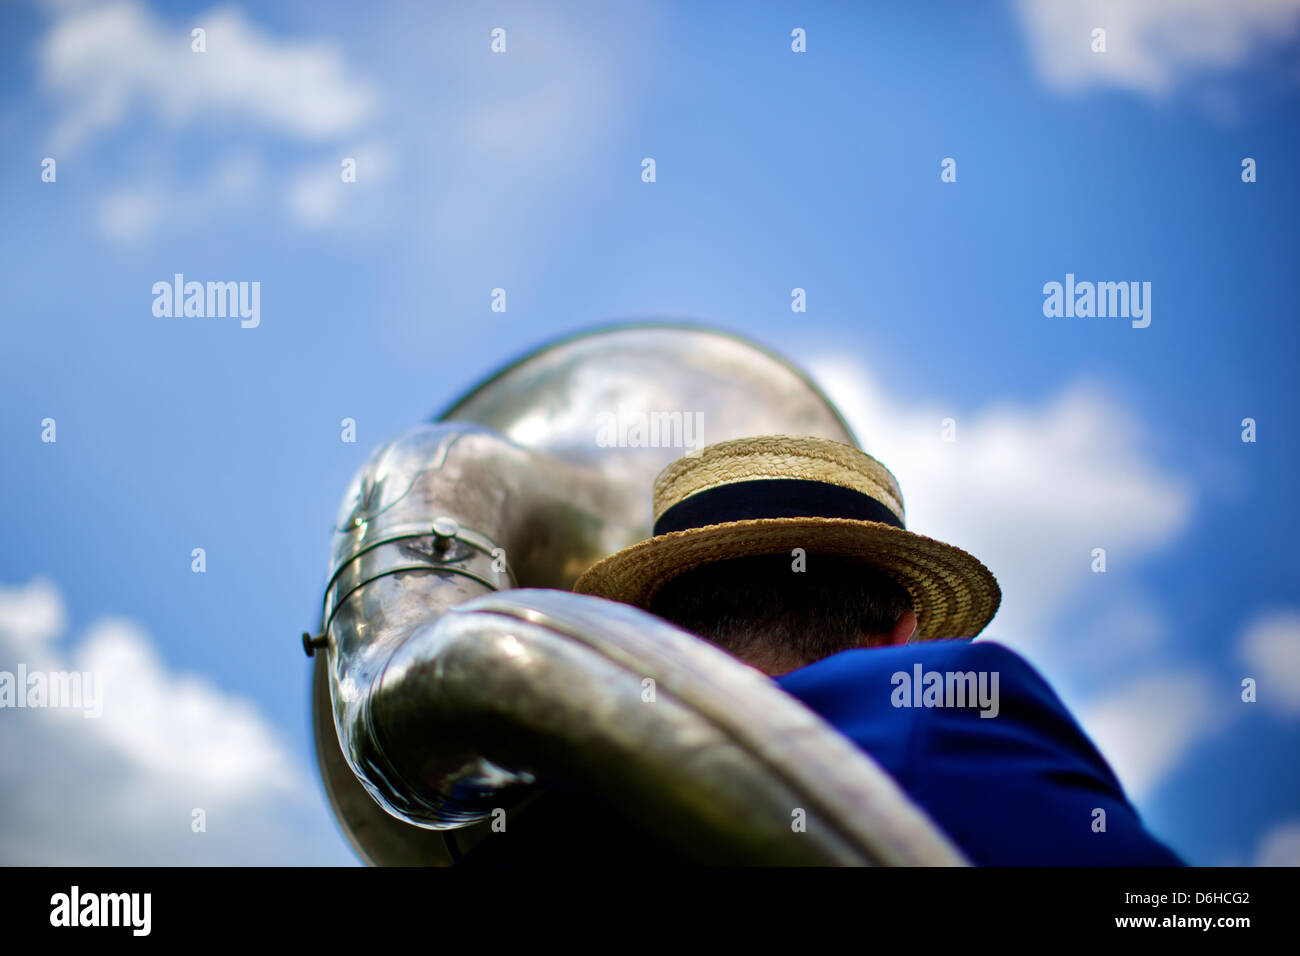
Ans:
{"type": "Polygon", "coordinates": [[[771,645],[807,663],[888,633],[910,607],[907,589],[884,571],[818,554],[803,571],[786,554],[705,564],[650,602],[653,614],[736,657],[771,645]]]}

